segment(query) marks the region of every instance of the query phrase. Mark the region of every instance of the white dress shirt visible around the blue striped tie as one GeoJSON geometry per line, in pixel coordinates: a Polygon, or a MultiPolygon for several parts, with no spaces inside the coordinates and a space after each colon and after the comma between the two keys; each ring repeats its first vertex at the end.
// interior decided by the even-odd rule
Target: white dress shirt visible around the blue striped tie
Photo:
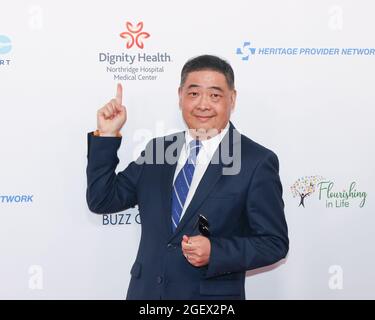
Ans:
{"type": "MultiPolygon", "coordinates": [[[[193,179],[192,179],[191,184],[190,184],[189,192],[188,192],[184,207],[182,208],[180,221],[181,221],[182,216],[184,215],[187,207],[189,206],[191,199],[193,199],[195,191],[198,188],[199,182],[201,181],[204,173],[206,172],[206,169],[207,169],[207,167],[208,167],[217,147],[219,146],[221,140],[224,138],[228,129],[229,129],[229,121],[228,121],[227,125],[225,126],[225,128],[223,130],[221,130],[221,132],[219,134],[217,134],[216,136],[214,136],[210,139],[201,141],[202,146],[201,146],[201,148],[199,150],[199,153],[198,153],[198,156],[197,156],[197,161],[196,161],[193,179]]],[[[189,151],[190,151],[189,150],[189,143],[192,140],[194,140],[194,138],[190,135],[189,129],[186,129],[186,131],[185,131],[185,144],[182,146],[180,157],[178,158],[176,171],[175,171],[174,177],[173,177],[173,184],[176,180],[176,177],[177,177],[178,173],[181,171],[181,169],[184,166],[186,160],[188,159],[189,151]]]]}

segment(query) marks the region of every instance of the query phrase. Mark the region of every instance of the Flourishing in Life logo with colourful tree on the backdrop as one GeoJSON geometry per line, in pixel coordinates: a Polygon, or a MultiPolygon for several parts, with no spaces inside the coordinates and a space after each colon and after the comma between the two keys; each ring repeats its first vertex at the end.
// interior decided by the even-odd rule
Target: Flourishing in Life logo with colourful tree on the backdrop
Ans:
{"type": "Polygon", "coordinates": [[[305,200],[317,194],[320,201],[325,201],[326,208],[349,208],[355,202],[360,208],[366,203],[367,192],[360,191],[357,182],[352,181],[343,189],[322,176],[305,176],[299,178],[290,187],[294,198],[298,198],[299,207],[305,207],[305,200]]]}

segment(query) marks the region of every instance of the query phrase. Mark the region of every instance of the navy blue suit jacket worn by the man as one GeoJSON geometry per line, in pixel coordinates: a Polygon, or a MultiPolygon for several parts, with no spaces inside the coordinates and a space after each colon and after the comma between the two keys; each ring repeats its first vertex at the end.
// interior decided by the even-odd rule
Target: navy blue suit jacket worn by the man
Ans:
{"type": "Polygon", "coordinates": [[[87,203],[99,214],[138,205],[142,232],[127,299],[245,299],[246,270],[286,256],[277,156],[240,135],[232,123],[214,154],[218,161],[209,164],[174,233],[171,196],[177,163],[160,159],[160,150],[162,156],[173,150],[177,160],[184,132],[151,140],[136,161],[116,174],[120,144],[121,138],[88,134],[87,203]],[[232,161],[221,156],[224,147],[232,161]],[[240,150],[237,160],[235,150],[240,150]],[[192,266],[181,250],[184,234],[199,234],[198,214],[208,219],[211,232],[210,261],[204,267],[192,266]]]}

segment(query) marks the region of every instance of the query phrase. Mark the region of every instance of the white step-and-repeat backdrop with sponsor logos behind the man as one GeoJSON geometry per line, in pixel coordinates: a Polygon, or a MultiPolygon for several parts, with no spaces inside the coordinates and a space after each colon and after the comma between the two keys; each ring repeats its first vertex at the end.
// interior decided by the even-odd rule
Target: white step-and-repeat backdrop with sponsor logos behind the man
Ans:
{"type": "Polygon", "coordinates": [[[86,205],[86,134],[124,87],[118,170],[183,129],[180,70],[236,75],[232,121],[280,159],[290,251],[247,299],[375,298],[375,3],[10,1],[0,10],[0,298],[124,299],[136,209],[86,205]]]}

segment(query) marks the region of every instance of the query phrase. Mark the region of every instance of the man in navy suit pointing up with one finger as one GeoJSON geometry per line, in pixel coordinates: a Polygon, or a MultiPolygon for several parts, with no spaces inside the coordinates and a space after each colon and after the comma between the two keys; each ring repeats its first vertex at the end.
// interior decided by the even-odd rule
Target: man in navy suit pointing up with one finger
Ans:
{"type": "Polygon", "coordinates": [[[138,205],[142,234],[127,299],[245,299],[246,270],[288,252],[277,156],[230,122],[234,73],[211,55],[181,72],[186,130],[151,140],[115,173],[126,122],[122,87],[88,134],[87,203],[95,213],[138,205]]]}

